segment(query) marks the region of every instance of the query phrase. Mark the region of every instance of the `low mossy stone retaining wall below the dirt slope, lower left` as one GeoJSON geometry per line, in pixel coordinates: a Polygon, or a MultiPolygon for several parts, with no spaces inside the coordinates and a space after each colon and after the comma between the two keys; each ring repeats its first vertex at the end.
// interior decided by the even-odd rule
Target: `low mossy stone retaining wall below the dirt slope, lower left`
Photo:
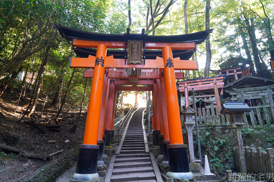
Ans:
{"type": "Polygon", "coordinates": [[[73,148],[63,156],[55,159],[51,163],[44,165],[41,169],[34,172],[24,182],[50,182],[53,181],[58,175],[62,174],[69,168],[76,160],[79,152],[79,146],[73,148]]]}

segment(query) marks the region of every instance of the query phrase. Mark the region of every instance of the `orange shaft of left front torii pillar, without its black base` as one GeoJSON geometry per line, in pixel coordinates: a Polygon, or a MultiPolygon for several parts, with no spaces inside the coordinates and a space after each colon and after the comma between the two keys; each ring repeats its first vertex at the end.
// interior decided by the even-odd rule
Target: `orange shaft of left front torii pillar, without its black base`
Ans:
{"type": "MultiPolygon", "coordinates": [[[[106,59],[106,45],[98,45],[96,58],[99,59],[99,61],[103,61],[104,63],[104,60],[106,59]]],[[[90,100],[88,103],[88,114],[83,138],[83,144],[86,145],[97,145],[104,73],[104,65],[101,65],[99,63],[95,64],[90,91],[90,100]]]]}

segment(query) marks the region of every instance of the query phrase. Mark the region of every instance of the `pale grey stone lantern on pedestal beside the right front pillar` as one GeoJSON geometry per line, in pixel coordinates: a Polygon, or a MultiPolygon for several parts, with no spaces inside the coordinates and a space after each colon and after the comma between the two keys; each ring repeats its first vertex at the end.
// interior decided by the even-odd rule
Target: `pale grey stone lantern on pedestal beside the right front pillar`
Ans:
{"type": "Polygon", "coordinates": [[[195,121],[193,121],[192,116],[194,114],[197,114],[197,112],[192,109],[190,106],[188,106],[185,110],[181,112],[181,115],[184,116],[184,129],[187,131],[187,139],[188,139],[188,148],[189,148],[189,154],[190,154],[190,163],[195,163],[194,158],[194,148],[193,148],[193,136],[192,136],[192,130],[195,126],[195,121]]]}

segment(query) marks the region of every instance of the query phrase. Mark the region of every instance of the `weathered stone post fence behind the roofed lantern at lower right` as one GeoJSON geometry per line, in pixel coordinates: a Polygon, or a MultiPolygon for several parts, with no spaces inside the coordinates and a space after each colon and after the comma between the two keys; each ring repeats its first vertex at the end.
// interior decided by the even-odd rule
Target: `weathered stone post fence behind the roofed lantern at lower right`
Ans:
{"type": "MultiPolygon", "coordinates": [[[[247,173],[264,174],[267,177],[267,173],[274,173],[274,149],[267,148],[250,148],[244,147],[245,153],[245,165],[247,173]]],[[[239,153],[237,147],[234,147],[234,158],[236,162],[237,171],[240,171],[239,166],[239,153]]],[[[267,181],[267,180],[266,180],[267,181]]]]}

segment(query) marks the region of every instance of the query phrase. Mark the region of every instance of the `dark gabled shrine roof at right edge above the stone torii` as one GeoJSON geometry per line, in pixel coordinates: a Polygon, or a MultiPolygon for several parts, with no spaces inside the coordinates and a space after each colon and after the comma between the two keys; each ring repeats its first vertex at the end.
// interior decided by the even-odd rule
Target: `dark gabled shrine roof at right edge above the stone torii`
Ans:
{"type": "Polygon", "coordinates": [[[252,85],[251,87],[256,87],[256,86],[266,86],[266,85],[272,85],[272,84],[274,84],[274,79],[256,77],[253,75],[245,75],[225,85],[224,88],[228,90],[233,88],[245,88],[248,85],[252,85]]]}

